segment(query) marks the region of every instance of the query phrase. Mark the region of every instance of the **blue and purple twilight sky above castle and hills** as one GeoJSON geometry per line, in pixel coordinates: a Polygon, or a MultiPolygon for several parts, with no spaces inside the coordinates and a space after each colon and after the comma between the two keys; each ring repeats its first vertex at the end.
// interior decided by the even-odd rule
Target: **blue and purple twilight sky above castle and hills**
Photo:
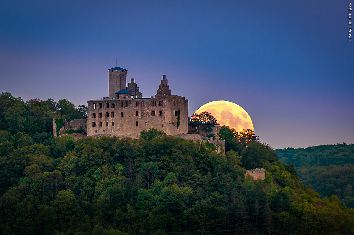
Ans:
{"type": "Polygon", "coordinates": [[[351,1],[2,1],[0,92],[87,105],[117,58],[143,97],[166,74],[189,116],[240,105],[271,147],[354,143],[351,1]]]}

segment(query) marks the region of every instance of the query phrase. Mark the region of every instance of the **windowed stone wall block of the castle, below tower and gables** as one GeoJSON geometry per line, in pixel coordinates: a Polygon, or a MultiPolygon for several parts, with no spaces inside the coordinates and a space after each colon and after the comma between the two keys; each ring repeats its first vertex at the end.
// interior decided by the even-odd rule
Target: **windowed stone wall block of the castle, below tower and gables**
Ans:
{"type": "Polygon", "coordinates": [[[188,132],[188,99],[181,96],[141,99],[101,99],[87,102],[89,136],[138,138],[149,128],[166,134],[188,132]],[[180,124],[177,128],[178,108],[180,124]]]}

